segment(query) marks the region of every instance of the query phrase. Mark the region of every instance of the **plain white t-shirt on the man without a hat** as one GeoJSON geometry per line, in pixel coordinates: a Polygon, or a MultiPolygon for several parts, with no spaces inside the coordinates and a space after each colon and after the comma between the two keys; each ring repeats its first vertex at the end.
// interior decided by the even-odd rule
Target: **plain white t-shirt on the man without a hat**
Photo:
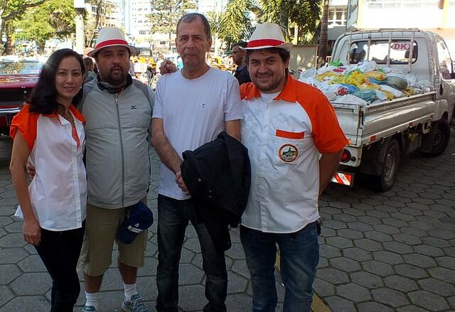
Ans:
{"type": "MultiPolygon", "coordinates": [[[[216,139],[225,122],[242,119],[239,84],[230,72],[210,68],[188,80],[181,71],[161,77],[156,85],[153,118],[163,119],[164,135],[182,157],[216,139]]],[[[190,198],[178,188],[175,174],[161,164],[158,193],[183,200],[190,198]]]]}

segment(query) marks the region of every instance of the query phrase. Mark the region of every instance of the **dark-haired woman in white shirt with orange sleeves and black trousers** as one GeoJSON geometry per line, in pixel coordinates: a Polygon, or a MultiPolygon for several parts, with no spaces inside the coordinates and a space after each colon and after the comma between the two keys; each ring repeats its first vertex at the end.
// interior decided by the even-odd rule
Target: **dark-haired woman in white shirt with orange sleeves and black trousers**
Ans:
{"type": "Polygon", "coordinates": [[[82,96],[84,72],[75,51],[55,51],[11,124],[16,216],[23,217],[23,239],[35,247],[52,278],[51,312],[73,311],[80,292],[76,265],[87,203],[85,119],[73,105],[82,96]],[[28,187],[27,161],[36,168],[28,187]]]}

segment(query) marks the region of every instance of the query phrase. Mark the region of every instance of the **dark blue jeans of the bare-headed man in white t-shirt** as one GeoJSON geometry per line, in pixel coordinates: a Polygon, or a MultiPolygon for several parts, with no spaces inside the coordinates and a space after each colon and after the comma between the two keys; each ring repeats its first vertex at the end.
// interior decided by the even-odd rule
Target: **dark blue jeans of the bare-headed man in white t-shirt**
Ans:
{"type": "Polygon", "coordinates": [[[175,200],[158,195],[158,268],[156,311],[178,311],[178,263],[185,230],[191,222],[198,234],[205,272],[204,312],[225,312],[228,271],[224,252],[217,252],[204,223],[198,222],[193,200],[175,200]]]}

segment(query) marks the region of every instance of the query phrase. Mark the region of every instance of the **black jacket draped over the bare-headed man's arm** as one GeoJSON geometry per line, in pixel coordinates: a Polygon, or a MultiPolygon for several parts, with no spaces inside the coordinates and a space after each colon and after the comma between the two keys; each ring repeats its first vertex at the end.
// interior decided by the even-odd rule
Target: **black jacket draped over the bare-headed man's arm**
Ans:
{"type": "Polygon", "coordinates": [[[225,131],[194,151],[184,151],[181,174],[215,248],[231,247],[229,227],[237,227],[250,193],[247,148],[225,131]]]}

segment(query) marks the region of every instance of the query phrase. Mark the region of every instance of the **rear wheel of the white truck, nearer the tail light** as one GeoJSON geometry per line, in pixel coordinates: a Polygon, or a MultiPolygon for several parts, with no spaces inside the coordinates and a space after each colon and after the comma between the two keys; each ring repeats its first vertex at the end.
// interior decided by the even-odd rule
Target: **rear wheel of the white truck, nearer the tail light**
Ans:
{"type": "Polygon", "coordinates": [[[381,173],[373,176],[373,190],[385,192],[392,188],[400,163],[400,145],[396,139],[391,139],[382,160],[381,173]]]}

